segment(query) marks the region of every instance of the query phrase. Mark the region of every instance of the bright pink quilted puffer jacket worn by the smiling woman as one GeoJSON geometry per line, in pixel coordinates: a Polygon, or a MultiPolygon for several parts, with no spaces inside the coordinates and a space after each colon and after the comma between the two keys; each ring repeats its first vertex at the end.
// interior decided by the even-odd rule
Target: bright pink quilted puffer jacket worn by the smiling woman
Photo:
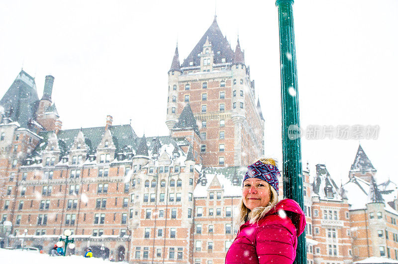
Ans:
{"type": "Polygon", "coordinates": [[[304,231],[305,217],[298,203],[280,201],[258,223],[246,222],[225,257],[225,264],[292,264],[297,237],[304,231]]]}

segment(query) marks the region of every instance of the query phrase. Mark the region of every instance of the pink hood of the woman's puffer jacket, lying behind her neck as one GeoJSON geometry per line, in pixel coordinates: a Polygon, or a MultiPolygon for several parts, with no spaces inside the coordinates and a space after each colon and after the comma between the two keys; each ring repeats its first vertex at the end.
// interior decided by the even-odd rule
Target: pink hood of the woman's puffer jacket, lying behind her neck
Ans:
{"type": "Polygon", "coordinates": [[[305,229],[305,215],[298,203],[292,199],[283,199],[272,208],[267,214],[278,214],[280,217],[289,217],[296,227],[297,236],[301,235],[305,229]]]}

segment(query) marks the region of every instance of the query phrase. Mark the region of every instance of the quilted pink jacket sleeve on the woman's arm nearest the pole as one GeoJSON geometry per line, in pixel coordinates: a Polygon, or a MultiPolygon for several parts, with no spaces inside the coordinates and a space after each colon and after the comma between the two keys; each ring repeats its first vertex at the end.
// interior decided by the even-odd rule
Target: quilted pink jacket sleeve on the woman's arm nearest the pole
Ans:
{"type": "Polygon", "coordinates": [[[259,264],[292,264],[296,258],[296,237],[282,225],[266,225],[256,235],[259,264]]]}

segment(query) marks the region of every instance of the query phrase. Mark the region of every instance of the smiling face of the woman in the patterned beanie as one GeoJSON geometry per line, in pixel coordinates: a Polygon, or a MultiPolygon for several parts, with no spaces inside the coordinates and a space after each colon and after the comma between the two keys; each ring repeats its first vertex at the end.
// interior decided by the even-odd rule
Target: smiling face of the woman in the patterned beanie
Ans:
{"type": "Polygon", "coordinates": [[[243,182],[243,203],[253,210],[256,207],[265,207],[271,200],[270,185],[258,178],[248,178],[243,182]]]}

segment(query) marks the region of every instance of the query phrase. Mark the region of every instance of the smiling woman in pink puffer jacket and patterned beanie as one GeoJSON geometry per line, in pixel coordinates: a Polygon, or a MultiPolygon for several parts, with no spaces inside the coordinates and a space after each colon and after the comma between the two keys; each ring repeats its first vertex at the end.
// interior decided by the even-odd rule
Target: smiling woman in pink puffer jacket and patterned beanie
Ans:
{"type": "Polygon", "coordinates": [[[248,166],[237,221],[241,226],[225,264],[294,262],[305,217],[294,200],[278,202],[279,176],[274,159],[263,158],[248,166]]]}

